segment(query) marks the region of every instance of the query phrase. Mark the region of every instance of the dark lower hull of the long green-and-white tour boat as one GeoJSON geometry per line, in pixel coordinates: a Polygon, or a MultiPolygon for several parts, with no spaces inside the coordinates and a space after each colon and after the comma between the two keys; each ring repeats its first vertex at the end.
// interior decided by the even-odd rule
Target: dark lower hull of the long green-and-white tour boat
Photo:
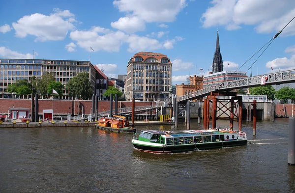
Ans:
{"type": "Polygon", "coordinates": [[[132,142],[134,147],[141,151],[154,152],[154,153],[178,153],[194,150],[205,150],[205,149],[215,149],[222,147],[233,147],[246,145],[247,140],[235,140],[235,141],[220,141],[214,143],[196,143],[196,144],[185,144],[185,145],[173,145],[173,146],[152,146],[143,145],[136,142],[132,142]]]}

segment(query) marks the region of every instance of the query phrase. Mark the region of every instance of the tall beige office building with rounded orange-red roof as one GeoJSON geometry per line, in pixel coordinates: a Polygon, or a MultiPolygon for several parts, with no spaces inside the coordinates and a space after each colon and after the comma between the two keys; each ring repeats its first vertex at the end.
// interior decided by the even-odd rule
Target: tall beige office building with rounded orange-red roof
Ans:
{"type": "Polygon", "coordinates": [[[139,52],[127,63],[125,97],[138,101],[169,99],[172,63],[167,55],[139,52]]]}

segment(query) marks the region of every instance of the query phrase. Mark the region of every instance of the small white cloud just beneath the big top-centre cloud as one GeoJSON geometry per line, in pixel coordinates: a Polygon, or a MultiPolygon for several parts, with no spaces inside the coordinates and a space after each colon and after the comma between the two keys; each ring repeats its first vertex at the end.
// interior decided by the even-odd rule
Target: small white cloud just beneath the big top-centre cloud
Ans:
{"type": "Polygon", "coordinates": [[[139,17],[121,17],[117,22],[112,22],[111,26],[126,33],[144,31],[146,29],[145,21],[139,17]]]}

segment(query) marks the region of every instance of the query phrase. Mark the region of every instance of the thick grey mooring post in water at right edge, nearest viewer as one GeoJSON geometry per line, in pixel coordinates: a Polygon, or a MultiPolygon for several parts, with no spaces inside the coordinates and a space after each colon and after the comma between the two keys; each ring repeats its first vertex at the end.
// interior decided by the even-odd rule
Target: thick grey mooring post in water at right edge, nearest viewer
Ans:
{"type": "Polygon", "coordinates": [[[289,117],[288,165],[295,165],[295,117],[289,117]]]}

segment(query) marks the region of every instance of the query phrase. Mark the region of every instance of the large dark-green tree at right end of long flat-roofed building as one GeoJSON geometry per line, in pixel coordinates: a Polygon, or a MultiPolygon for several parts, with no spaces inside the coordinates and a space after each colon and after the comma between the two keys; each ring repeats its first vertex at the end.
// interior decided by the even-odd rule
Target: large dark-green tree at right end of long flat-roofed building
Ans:
{"type": "Polygon", "coordinates": [[[82,99],[89,99],[92,96],[92,86],[89,82],[89,73],[81,72],[66,84],[66,90],[70,97],[80,96],[82,99]]]}

